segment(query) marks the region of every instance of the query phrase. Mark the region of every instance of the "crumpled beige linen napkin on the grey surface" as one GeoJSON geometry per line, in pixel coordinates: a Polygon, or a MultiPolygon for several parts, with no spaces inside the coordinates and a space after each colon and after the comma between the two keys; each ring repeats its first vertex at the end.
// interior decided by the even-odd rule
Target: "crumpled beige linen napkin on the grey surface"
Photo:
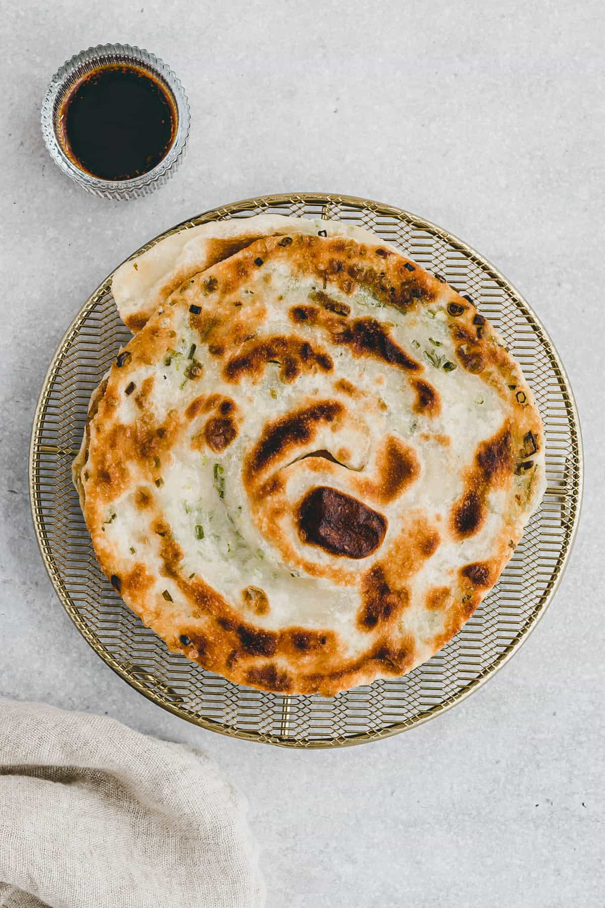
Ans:
{"type": "Polygon", "coordinates": [[[260,908],[246,809],[199,750],[0,700],[5,908],[260,908]]]}

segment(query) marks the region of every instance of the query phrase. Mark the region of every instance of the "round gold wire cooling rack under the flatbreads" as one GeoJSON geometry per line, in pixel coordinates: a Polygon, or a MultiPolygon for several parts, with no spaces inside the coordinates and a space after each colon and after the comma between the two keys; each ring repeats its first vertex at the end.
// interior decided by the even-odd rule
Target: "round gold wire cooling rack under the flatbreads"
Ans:
{"type": "Polygon", "coordinates": [[[522,296],[464,242],[409,212],[342,195],[269,195],[201,214],[143,249],[183,226],[263,212],[334,218],[395,243],[429,271],[444,275],[457,291],[470,294],[522,364],[544,421],[548,489],[497,586],[457,637],[424,666],[335,697],[250,690],[171,655],[102,575],[72,486],[72,459],[91,392],[131,336],[112,299],[111,275],[76,315],[44,380],[30,451],[34,527],[44,564],[74,625],[108,666],[154,703],[197,725],[248,740],[307,748],[358,744],[395,735],[469,696],[542,617],[570,556],[580,514],[578,412],[557,351],[522,296]]]}

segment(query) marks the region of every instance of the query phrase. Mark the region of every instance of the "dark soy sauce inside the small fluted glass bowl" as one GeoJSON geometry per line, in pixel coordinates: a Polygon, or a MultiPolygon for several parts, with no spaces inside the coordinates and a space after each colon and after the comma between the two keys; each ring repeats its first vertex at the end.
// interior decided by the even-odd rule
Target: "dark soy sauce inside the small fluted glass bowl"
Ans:
{"type": "Polygon", "coordinates": [[[100,66],[63,101],[65,153],[102,180],[149,173],[169,152],[177,114],[171,94],[135,66],[100,66]]]}

